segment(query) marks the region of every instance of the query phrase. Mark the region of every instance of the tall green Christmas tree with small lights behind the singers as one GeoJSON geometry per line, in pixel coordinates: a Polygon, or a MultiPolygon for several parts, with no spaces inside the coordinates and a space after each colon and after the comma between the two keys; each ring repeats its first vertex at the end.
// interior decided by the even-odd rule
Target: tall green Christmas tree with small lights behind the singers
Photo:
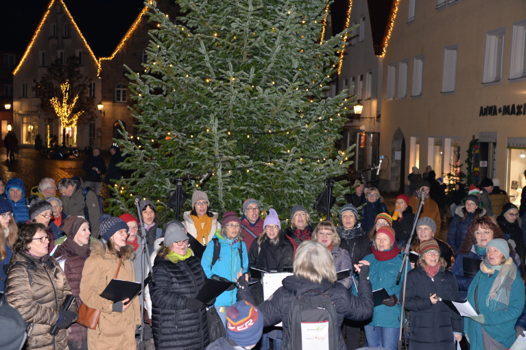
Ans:
{"type": "MultiPolygon", "coordinates": [[[[241,214],[250,197],[284,221],[296,203],[310,210],[324,179],[350,165],[350,149],[335,149],[349,95],[326,97],[346,39],[322,40],[328,2],[178,4],[185,15],[169,18],[150,3],[158,29],[145,71],[129,75],[139,137],[120,142],[130,155],[123,168],[134,173],[116,189],[113,213],[132,210],[138,193],[158,203],[162,219],[174,218],[165,204],[174,177],[211,168],[210,179],[185,190],[202,187],[213,211],[241,214]]],[[[339,183],[333,193],[343,201],[339,183]]]]}

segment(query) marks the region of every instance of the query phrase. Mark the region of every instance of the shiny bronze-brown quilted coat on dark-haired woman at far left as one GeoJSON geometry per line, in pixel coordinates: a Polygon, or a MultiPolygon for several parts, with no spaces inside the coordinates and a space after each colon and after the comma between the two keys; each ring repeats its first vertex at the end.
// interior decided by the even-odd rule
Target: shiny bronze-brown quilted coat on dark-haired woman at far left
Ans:
{"type": "MultiPolygon", "coordinates": [[[[20,312],[25,322],[33,323],[24,349],[68,349],[66,329],[60,329],[56,337],[49,334],[58,320],[58,308],[71,295],[68,279],[58,262],[49,255],[37,258],[15,253],[7,284],[5,297],[9,305],[20,312]]],[[[78,312],[77,303],[73,302],[69,310],[78,312]]]]}

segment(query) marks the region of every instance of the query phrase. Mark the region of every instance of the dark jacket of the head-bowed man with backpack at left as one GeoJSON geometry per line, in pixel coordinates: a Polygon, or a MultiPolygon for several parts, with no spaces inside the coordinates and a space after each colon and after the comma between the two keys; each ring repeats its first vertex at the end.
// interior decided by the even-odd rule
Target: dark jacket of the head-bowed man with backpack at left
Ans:
{"type": "Polygon", "coordinates": [[[89,219],[86,219],[90,222],[91,236],[93,238],[99,238],[100,209],[97,195],[95,195],[95,192],[93,191],[88,191],[86,194],[86,201],[84,201],[84,196],[82,195],[82,189],[85,187],[84,182],[79,177],[76,177],[75,180],[77,181],[77,184],[75,185],[71,197],[62,196],[62,204],[64,204],[62,210],[67,216],[75,215],[84,218],[86,217],[84,208],[87,208],[89,219]]]}

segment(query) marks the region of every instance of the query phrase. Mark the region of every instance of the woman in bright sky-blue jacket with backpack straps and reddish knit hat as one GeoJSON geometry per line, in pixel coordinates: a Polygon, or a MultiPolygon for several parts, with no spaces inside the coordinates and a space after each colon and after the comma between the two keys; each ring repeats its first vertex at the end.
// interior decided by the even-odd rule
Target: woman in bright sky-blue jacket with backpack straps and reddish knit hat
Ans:
{"type": "MultiPolygon", "coordinates": [[[[248,271],[248,251],[243,242],[241,221],[235,212],[223,214],[222,229],[215,232],[201,259],[206,277],[223,277],[231,282],[248,271]]],[[[214,307],[226,329],[226,308],[236,302],[235,290],[226,290],[215,299],[214,307]]]]}

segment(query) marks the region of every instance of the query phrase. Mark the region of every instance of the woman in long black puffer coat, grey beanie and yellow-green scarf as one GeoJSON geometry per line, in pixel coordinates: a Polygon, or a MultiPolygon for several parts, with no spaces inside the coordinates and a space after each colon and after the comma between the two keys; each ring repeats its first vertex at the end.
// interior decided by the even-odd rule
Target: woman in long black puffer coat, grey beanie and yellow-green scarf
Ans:
{"type": "Polygon", "coordinates": [[[188,247],[187,233],[178,223],[169,223],[165,228],[154,274],[155,284],[150,282],[149,287],[155,348],[204,349],[209,343],[206,305],[195,297],[206,275],[188,247]]]}

